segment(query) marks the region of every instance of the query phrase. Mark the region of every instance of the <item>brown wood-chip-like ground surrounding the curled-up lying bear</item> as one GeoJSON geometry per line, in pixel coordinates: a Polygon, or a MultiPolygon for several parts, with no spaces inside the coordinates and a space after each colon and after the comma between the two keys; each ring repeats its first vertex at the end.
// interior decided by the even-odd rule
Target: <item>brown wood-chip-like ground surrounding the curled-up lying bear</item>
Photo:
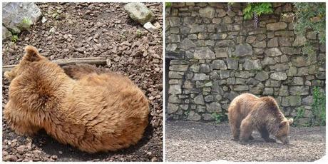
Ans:
{"type": "MultiPolygon", "coordinates": [[[[119,3],[39,3],[45,23],[38,21],[2,47],[4,65],[19,63],[24,47],[33,45],[43,56],[85,58],[102,56],[111,71],[134,81],[150,100],[150,125],[137,145],[113,153],[83,153],[41,131],[34,138],[16,135],[2,120],[5,161],[162,161],[163,160],[163,6],[146,3],[155,14],[157,34],[150,34],[128,17],[119,3]]],[[[8,102],[9,81],[2,80],[2,106],[8,102]]]]}

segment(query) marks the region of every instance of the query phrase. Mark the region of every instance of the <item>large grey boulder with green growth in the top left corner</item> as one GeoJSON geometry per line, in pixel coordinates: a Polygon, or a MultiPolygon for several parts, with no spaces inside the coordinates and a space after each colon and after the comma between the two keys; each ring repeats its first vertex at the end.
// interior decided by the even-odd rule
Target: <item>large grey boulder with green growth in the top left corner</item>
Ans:
{"type": "Polygon", "coordinates": [[[28,30],[41,18],[41,11],[31,2],[5,2],[2,4],[2,24],[15,34],[28,30]]]}

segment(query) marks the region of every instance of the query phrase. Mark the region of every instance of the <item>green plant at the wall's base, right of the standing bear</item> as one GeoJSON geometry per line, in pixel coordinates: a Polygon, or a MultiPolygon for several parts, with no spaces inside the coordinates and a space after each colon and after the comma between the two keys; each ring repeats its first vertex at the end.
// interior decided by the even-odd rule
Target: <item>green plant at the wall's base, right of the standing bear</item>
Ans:
{"type": "Polygon", "coordinates": [[[312,116],[310,125],[326,125],[326,96],[318,86],[314,86],[312,116]]]}

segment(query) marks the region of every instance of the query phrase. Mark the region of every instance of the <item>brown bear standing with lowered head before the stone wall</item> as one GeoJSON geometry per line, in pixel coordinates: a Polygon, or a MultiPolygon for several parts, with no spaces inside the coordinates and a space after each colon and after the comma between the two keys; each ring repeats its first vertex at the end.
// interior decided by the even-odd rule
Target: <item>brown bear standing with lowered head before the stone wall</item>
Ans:
{"type": "Polygon", "coordinates": [[[271,133],[282,143],[289,143],[289,125],[293,119],[285,118],[272,97],[258,98],[243,93],[230,103],[228,118],[234,140],[252,140],[252,131],[258,130],[266,142],[275,142],[269,138],[271,133]]]}

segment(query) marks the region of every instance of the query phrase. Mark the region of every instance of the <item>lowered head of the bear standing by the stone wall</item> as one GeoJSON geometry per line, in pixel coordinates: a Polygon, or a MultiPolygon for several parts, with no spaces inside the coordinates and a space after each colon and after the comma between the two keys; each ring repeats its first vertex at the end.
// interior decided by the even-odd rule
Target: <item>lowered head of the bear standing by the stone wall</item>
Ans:
{"type": "Polygon", "coordinates": [[[289,125],[291,125],[293,121],[294,120],[292,118],[289,119],[285,118],[279,124],[279,129],[276,137],[284,144],[289,143],[289,125]]]}

